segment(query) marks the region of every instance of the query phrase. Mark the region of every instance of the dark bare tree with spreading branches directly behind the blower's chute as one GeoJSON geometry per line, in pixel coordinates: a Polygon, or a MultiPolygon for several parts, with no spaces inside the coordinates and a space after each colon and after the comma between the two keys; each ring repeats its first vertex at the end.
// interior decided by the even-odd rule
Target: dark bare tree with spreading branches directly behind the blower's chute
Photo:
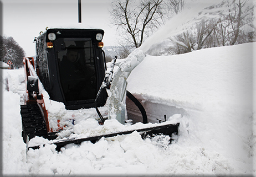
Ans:
{"type": "Polygon", "coordinates": [[[163,24],[163,8],[163,0],[141,0],[139,3],[132,0],[113,1],[112,23],[121,29],[127,45],[138,48],[145,37],[163,24]]]}

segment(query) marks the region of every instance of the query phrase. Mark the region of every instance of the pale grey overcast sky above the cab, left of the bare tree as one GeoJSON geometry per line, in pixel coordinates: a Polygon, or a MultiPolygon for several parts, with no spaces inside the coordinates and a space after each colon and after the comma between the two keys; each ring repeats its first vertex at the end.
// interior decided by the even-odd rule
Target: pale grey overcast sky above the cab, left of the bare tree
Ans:
{"type": "Polygon", "coordinates": [[[116,27],[110,25],[111,0],[81,0],[81,24],[78,23],[78,0],[0,0],[2,33],[12,36],[25,50],[35,55],[34,37],[45,27],[85,26],[105,31],[105,46],[115,45],[116,27]]]}

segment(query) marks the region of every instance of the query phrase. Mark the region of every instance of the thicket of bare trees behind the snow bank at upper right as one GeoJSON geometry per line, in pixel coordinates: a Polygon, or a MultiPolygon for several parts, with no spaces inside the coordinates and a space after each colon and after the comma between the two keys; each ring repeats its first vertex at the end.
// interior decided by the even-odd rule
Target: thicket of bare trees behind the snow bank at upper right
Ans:
{"type": "Polygon", "coordinates": [[[223,1],[204,9],[202,18],[199,16],[186,32],[171,39],[176,52],[255,41],[254,4],[247,3],[248,0],[223,1]]]}

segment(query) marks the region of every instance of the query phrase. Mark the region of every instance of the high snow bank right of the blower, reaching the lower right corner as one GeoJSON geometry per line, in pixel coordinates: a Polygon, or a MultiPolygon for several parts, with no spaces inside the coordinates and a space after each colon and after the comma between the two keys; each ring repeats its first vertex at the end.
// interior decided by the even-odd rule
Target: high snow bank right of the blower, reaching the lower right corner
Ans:
{"type": "Polygon", "coordinates": [[[142,103],[185,109],[188,116],[181,123],[187,135],[183,132],[177,144],[222,154],[234,173],[248,173],[255,144],[252,53],[249,43],[147,56],[128,78],[127,90],[142,103]]]}

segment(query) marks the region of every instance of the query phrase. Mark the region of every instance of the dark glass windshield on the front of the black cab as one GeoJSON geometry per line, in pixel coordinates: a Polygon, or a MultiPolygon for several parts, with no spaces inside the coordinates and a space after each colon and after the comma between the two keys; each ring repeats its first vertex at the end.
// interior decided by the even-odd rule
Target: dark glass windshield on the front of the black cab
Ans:
{"type": "Polygon", "coordinates": [[[93,42],[89,38],[58,39],[59,76],[66,101],[96,98],[93,42]]]}

